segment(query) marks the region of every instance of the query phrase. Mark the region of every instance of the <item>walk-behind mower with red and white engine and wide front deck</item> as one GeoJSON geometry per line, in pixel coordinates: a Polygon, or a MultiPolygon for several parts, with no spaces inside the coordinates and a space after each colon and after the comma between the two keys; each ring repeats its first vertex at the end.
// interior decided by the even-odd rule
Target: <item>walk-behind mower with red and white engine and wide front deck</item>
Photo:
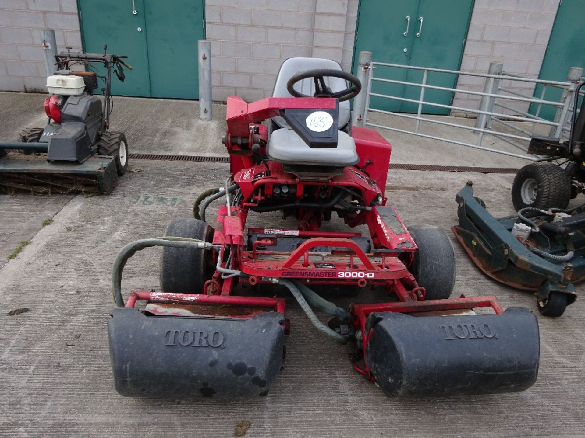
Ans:
{"type": "Polygon", "coordinates": [[[0,160],[2,189],[107,193],[118,176],[126,173],[126,136],[109,130],[111,79],[113,69],[123,82],[126,76],[122,65],[132,67],[123,61],[127,57],[106,50],[104,46],[104,54],[71,53],[68,47],[67,52],[56,55],[56,72],[47,78],[51,95],[44,101],[47,125],[23,130],[16,142],[0,142],[0,158],[4,158],[0,160]],[[105,74],[98,75],[92,62],[104,65],[105,74]],[[94,95],[98,79],[105,83],[103,105],[94,95]],[[8,150],[15,152],[7,154],[8,150]],[[46,160],[31,156],[35,154],[46,154],[46,160]]]}

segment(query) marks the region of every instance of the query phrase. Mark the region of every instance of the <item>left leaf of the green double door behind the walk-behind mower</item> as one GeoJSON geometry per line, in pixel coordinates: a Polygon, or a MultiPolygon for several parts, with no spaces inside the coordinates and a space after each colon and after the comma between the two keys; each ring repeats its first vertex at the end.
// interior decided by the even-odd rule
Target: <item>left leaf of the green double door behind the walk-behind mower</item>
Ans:
{"type": "MultiPolygon", "coordinates": [[[[135,2],[138,6],[142,0],[135,2]]],[[[146,33],[137,30],[144,29],[144,14],[132,13],[132,0],[79,0],[78,7],[84,50],[104,53],[107,44],[108,53],[128,55],[128,64],[133,67],[132,71],[124,70],[124,82],[113,75],[112,94],[150,96],[146,33]]],[[[103,66],[96,67],[103,74],[103,66]]]]}

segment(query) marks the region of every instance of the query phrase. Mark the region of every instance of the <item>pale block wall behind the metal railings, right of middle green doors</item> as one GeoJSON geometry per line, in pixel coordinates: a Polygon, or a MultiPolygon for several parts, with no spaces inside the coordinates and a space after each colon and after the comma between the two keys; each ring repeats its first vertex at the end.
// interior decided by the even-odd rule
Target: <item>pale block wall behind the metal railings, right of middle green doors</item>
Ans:
{"type": "MultiPolygon", "coordinates": [[[[461,64],[462,71],[487,73],[491,61],[504,72],[538,78],[559,0],[476,0],[461,64]]],[[[483,91],[484,78],[463,76],[458,89],[483,91]]],[[[534,84],[502,81],[501,86],[532,95],[534,84]]],[[[479,109],[481,96],[456,93],[454,106],[479,109]]],[[[522,111],[528,104],[507,102],[522,111]]],[[[496,108],[497,112],[510,113],[496,108]]]]}

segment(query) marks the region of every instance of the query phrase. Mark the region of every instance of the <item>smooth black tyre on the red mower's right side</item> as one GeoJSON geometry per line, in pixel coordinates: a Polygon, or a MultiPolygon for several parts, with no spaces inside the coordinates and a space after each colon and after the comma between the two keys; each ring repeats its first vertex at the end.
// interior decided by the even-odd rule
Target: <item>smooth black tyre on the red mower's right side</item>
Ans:
{"type": "Polygon", "coordinates": [[[433,225],[412,225],[408,231],[418,246],[409,270],[425,288],[425,300],[449,298],[455,285],[456,263],[446,232],[433,225]]]}

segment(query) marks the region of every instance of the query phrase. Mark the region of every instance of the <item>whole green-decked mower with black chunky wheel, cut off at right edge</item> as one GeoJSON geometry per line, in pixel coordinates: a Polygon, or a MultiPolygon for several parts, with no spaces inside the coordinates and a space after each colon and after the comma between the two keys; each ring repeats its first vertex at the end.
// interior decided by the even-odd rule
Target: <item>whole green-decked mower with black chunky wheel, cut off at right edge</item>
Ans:
{"type": "Polygon", "coordinates": [[[452,229],[473,262],[501,283],[534,291],[539,312],[549,317],[560,317],[574,303],[573,284],[585,279],[585,204],[567,208],[585,183],[585,100],[577,108],[575,99],[568,141],[532,138],[528,152],[548,158],[517,173],[517,214],[495,219],[473,196],[471,183],[456,196],[459,225],[452,229]]]}

